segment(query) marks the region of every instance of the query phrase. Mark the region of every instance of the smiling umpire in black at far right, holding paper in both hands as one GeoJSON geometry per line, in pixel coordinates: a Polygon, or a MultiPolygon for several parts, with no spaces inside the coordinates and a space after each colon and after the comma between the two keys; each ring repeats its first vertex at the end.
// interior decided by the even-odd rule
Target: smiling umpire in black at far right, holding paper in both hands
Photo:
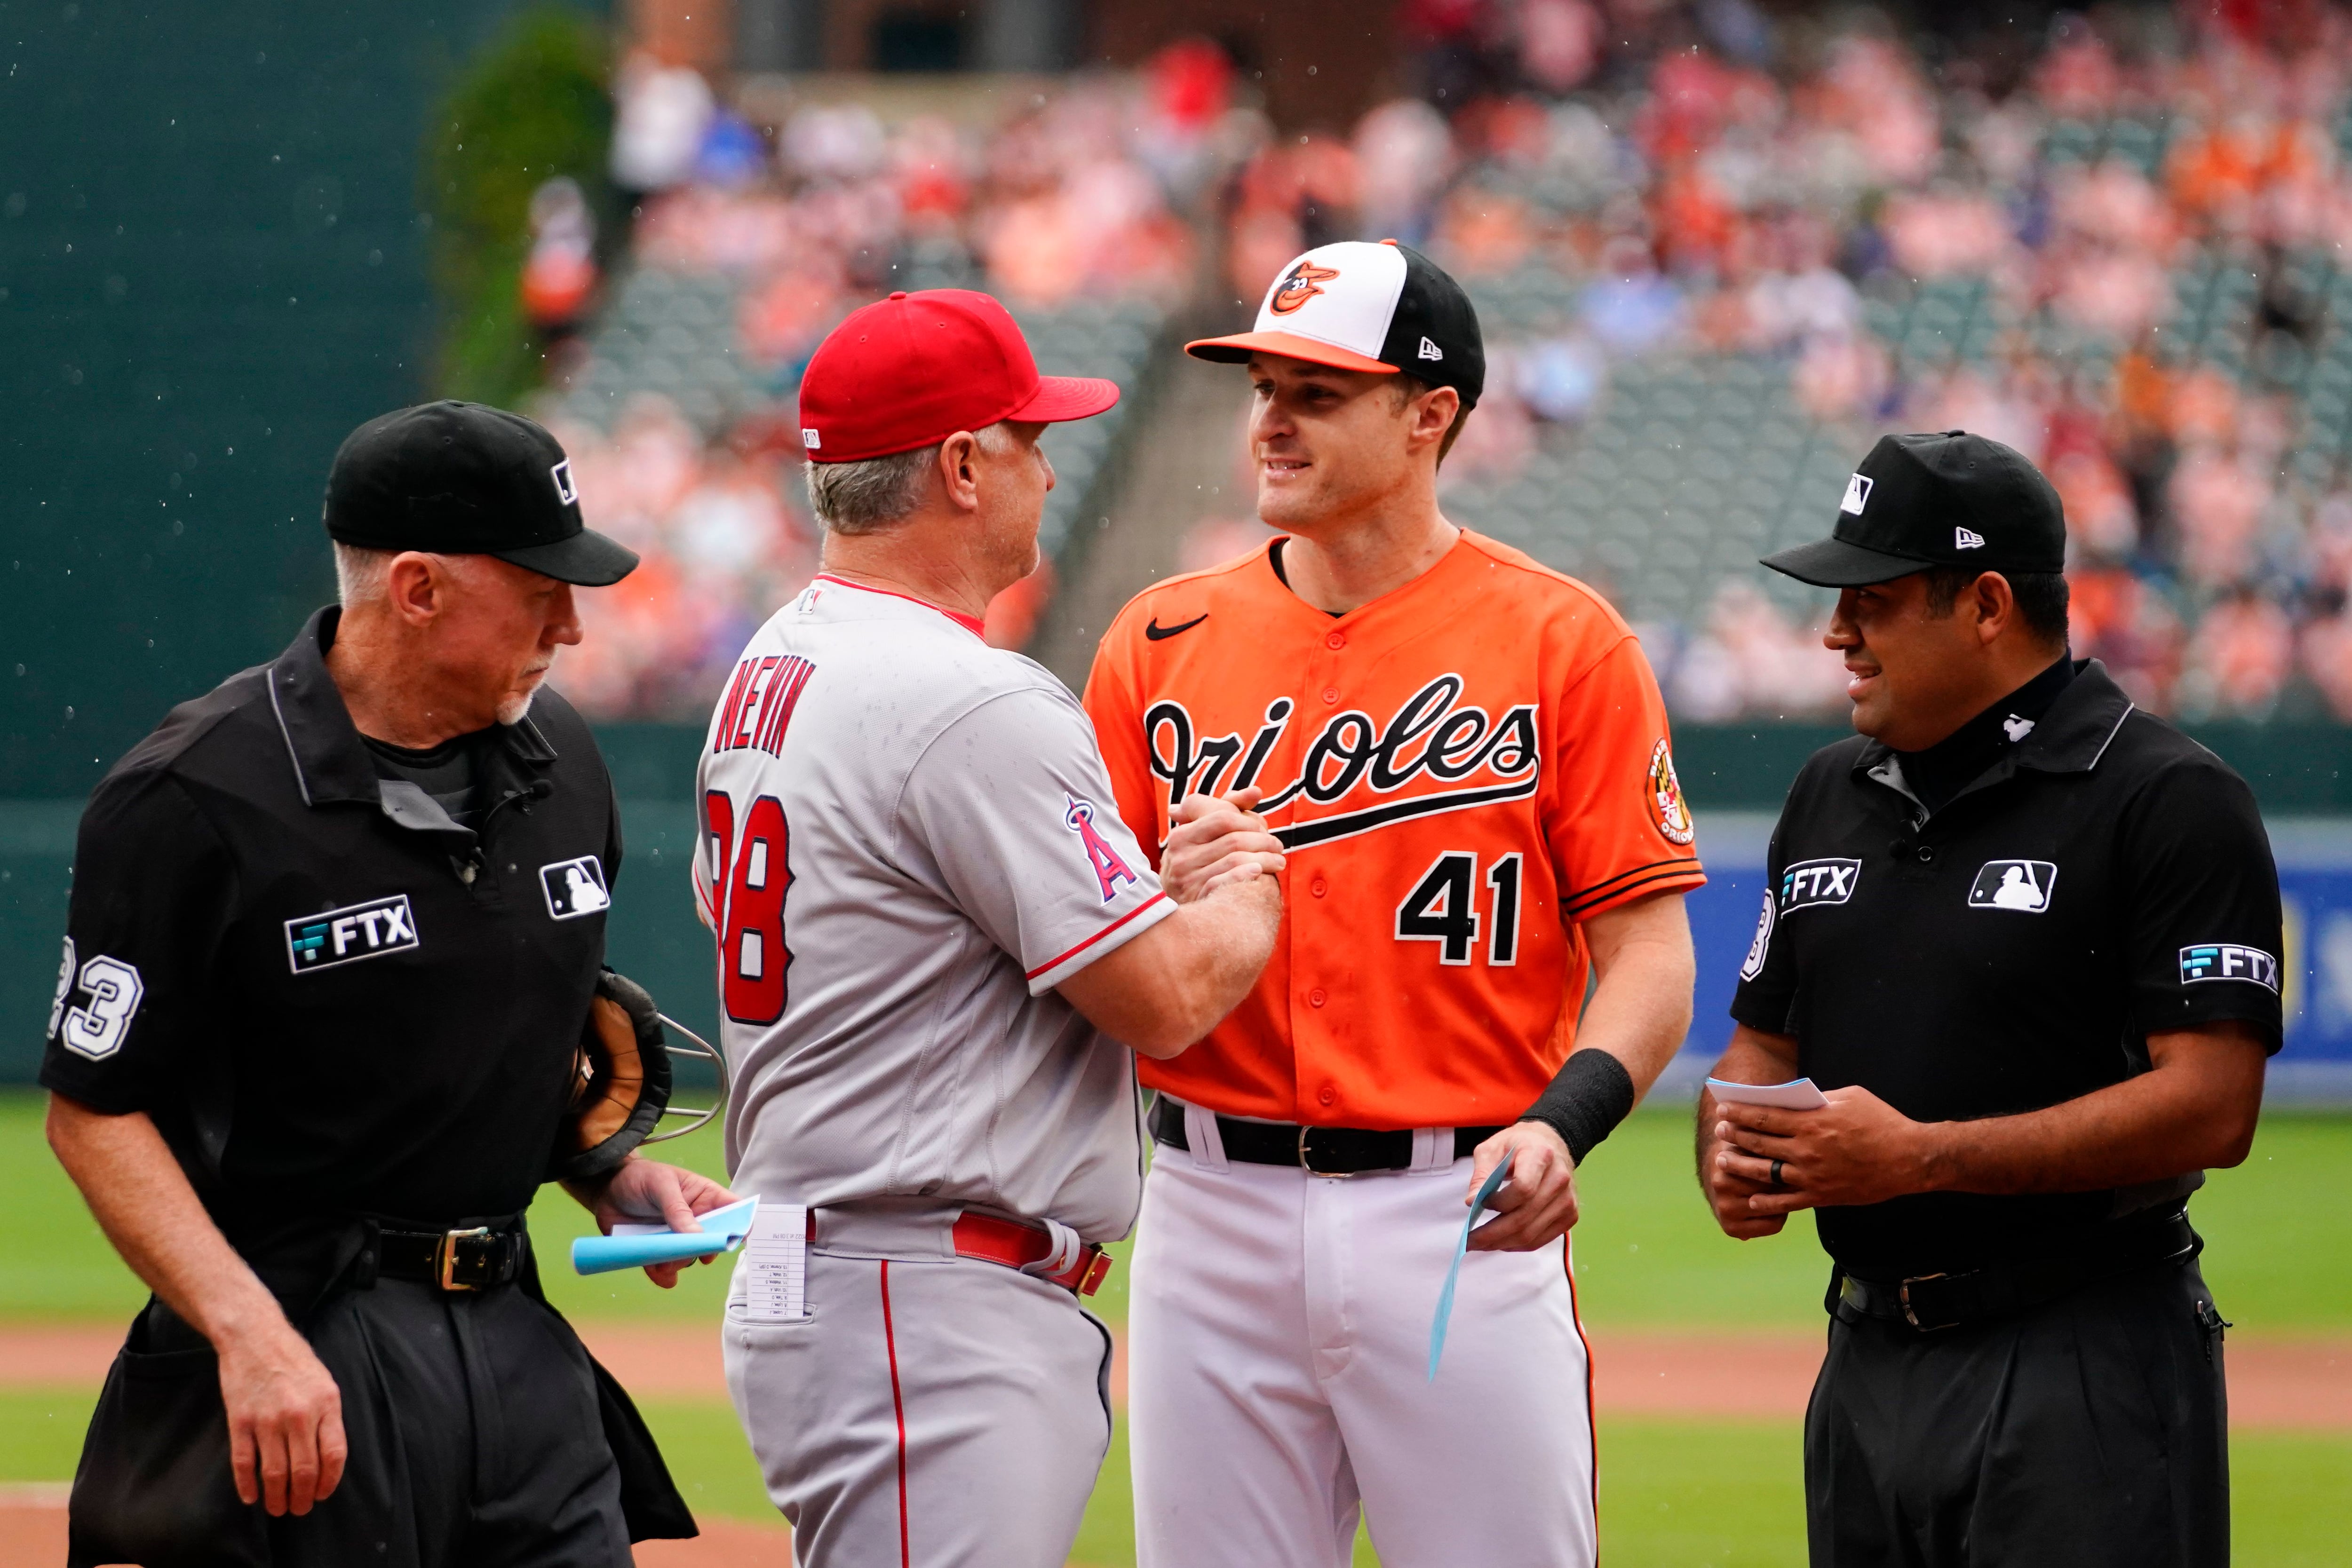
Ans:
{"type": "Polygon", "coordinates": [[[2065,524],[2023,456],[1891,435],[1835,538],[1851,741],[1816,752],[1698,1168],[1733,1237],[1816,1208],[1830,1349],[1816,1568],[2230,1556],[2223,1319],[2185,1215],[2253,1143],[2279,882],[2244,780],[2065,644],[2065,524]]]}

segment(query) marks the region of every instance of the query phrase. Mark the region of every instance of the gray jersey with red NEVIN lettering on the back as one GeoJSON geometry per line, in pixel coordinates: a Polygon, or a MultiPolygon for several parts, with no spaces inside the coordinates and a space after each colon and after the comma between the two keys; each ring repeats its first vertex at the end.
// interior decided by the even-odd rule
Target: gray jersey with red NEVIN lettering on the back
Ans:
{"type": "Polygon", "coordinates": [[[818,576],[743,649],[696,804],[734,1187],[1124,1237],[1134,1056],[1054,985],[1176,905],[1070,691],[974,623],[818,576]]]}

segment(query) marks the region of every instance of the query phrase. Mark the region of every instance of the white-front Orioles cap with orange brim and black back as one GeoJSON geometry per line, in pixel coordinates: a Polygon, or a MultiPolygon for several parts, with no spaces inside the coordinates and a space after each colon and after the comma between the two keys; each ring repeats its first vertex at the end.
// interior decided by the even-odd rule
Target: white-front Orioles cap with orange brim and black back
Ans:
{"type": "Polygon", "coordinates": [[[1395,240],[1317,244],[1265,289],[1256,327],[1183,348],[1223,364],[1287,355],[1376,376],[1409,371],[1451,386],[1465,409],[1486,390],[1486,343],[1470,296],[1444,268],[1395,240]]]}

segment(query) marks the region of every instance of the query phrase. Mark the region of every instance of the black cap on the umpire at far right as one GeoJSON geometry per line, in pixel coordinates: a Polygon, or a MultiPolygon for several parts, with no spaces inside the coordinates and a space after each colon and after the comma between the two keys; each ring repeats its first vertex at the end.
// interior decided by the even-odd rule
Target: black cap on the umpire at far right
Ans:
{"type": "Polygon", "coordinates": [[[2013,447],[1966,430],[1882,435],[1846,480],[1830,538],[1762,564],[1818,588],[1867,588],[1936,567],[2065,571],[2065,512],[2013,447]]]}

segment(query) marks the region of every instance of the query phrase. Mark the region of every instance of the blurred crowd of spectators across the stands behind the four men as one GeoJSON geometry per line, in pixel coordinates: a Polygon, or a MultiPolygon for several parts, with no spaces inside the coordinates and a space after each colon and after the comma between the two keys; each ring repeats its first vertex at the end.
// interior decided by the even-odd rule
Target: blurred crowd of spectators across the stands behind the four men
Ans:
{"type": "MultiPolygon", "coordinates": [[[[1494,374],[1456,489],[1576,442],[1632,362],[1745,357],[1839,451],[1969,428],[2042,463],[2072,531],[2074,649],[2150,708],[2352,719],[2343,9],[2103,9],[2023,56],[1748,0],[1409,0],[1404,26],[1418,92],[1345,136],[1275,136],[1207,42],[1070,78],[985,132],[856,103],[753,127],[691,71],[628,61],[623,270],[729,280],[753,409],[696,421],[637,390],[583,421],[550,400],[593,524],[652,567],[604,595],[621,635],[576,661],[581,701],[696,708],[720,649],[804,581],[790,400],[847,310],[936,284],[1016,310],[1176,308],[1197,219],[1221,214],[1244,303],[1298,249],[1357,235],[1425,244],[1472,284],[1494,374]]],[[[1204,522],[1188,557],[1251,527],[1204,522]]],[[[1000,635],[1044,592],[1025,585],[1000,635]]],[[[1818,602],[1726,574],[1696,604],[1642,623],[1684,717],[1837,712],[1804,625],[1818,602]]]]}

